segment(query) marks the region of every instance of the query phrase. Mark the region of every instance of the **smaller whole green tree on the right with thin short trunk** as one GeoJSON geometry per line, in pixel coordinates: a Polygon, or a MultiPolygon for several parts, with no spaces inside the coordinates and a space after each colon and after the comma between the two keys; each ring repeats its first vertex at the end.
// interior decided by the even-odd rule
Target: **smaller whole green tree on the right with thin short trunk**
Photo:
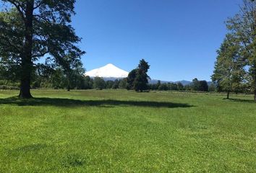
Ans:
{"type": "Polygon", "coordinates": [[[212,80],[218,89],[227,92],[227,99],[229,99],[229,93],[241,86],[244,76],[244,65],[239,54],[240,44],[236,37],[226,35],[217,53],[212,80]]]}

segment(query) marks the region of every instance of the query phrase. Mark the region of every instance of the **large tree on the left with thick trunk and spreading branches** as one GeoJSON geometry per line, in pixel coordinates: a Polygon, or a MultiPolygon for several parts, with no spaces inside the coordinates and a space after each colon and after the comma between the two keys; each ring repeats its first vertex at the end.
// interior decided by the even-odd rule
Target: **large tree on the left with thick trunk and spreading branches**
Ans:
{"type": "Polygon", "coordinates": [[[20,97],[30,98],[34,62],[47,56],[47,61],[61,64],[72,54],[80,58],[80,37],[69,23],[75,0],[1,0],[9,9],[0,14],[0,62],[16,64],[20,78],[20,97]]]}

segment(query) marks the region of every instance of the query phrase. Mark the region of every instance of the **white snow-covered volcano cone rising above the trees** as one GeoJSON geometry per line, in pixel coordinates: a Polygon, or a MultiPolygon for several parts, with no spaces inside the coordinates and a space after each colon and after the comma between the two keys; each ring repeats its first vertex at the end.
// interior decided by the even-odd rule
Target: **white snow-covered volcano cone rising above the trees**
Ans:
{"type": "Polygon", "coordinates": [[[128,74],[129,73],[127,71],[124,71],[121,68],[118,68],[113,64],[108,63],[106,66],[95,68],[91,71],[86,72],[85,76],[121,79],[126,78],[128,74]]]}

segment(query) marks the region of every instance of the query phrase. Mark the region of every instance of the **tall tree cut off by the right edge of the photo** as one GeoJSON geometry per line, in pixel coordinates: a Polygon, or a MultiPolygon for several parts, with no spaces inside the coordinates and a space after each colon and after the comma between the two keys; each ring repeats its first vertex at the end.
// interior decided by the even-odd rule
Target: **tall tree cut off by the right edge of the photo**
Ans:
{"type": "Polygon", "coordinates": [[[244,0],[239,14],[230,18],[226,26],[242,45],[241,53],[246,66],[249,66],[247,74],[256,101],[256,1],[244,0]]]}

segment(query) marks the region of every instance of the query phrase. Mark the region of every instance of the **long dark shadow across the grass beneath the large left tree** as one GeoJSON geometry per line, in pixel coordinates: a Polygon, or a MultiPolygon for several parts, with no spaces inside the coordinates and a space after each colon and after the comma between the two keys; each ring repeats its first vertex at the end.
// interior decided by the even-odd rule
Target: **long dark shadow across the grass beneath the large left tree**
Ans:
{"type": "Polygon", "coordinates": [[[18,106],[57,106],[57,107],[80,107],[80,106],[97,106],[97,107],[114,107],[122,106],[139,106],[139,107],[193,107],[192,105],[173,102],[153,102],[153,101],[126,101],[114,99],[102,100],[80,100],[65,98],[33,98],[19,99],[17,97],[9,97],[0,99],[0,105],[18,105],[18,106]]]}

